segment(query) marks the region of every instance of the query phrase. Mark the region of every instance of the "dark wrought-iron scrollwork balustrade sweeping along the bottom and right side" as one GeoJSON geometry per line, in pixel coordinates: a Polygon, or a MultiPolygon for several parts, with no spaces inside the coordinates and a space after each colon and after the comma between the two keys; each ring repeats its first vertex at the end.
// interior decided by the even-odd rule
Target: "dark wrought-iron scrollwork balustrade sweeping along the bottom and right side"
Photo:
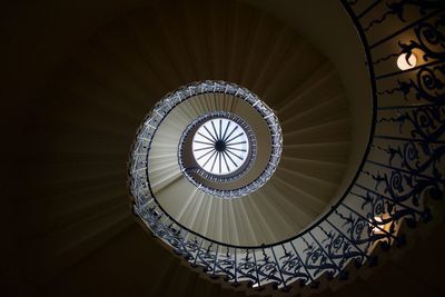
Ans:
{"type": "Polygon", "coordinates": [[[373,87],[367,152],[344,197],[305,231],[273,245],[231,246],[178,225],[150,192],[145,152],[166,112],[164,106],[172,107],[175,102],[169,100],[180,95],[167,96],[140,128],[129,167],[134,211],[154,236],[191,266],[204,267],[211,277],[224,277],[234,286],[247,283],[255,289],[267,284],[280,290],[294,286],[317,288],[323,276],[346,279],[350,264],[377,265],[373,253],[376,247],[389,250],[404,245],[409,238],[400,232],[403,221],[415,227],[434,219],[427,199],[443,198],[445,179],[444,2],[374,1],[380,2],[377,6],[370,1],[366,9],[362,6],[356,11],[360,2],[342,0],[363,42],[373,87]],[[417,19],[404,14],[408,7],[418,8],[417,19]],[[390,14],[396,18],[382,18],[390,14]],[[370,21],[373,26],[369,18],[363,21],[365,16],[377,16],[370,21]],[[376,37],[374,28],[389,21],[390,28],[397,21],[402,29],[376,37]],[[399,42],[402,34],[415,40],[399,42]],[[387,59],[374,57],[374,51],[386,42],[398,44],[399,51],[388,52],[387,59]],[[385,69],[390,69],[399,53],[414,50],[423,52],[421,66],[405,72],[378,70],[385,63],[385,69]]]}

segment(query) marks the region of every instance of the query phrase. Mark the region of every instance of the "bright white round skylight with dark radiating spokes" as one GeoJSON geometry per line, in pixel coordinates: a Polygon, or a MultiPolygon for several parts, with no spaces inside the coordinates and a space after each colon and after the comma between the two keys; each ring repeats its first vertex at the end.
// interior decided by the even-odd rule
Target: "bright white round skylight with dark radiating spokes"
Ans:
{"type": "Polygon", "coordinates": [[[212,118],[196,130],[191,149],[202,170],[225,176],[247,161],[249,148],[249,138],[240,125],[228,118],[212,118]]]}

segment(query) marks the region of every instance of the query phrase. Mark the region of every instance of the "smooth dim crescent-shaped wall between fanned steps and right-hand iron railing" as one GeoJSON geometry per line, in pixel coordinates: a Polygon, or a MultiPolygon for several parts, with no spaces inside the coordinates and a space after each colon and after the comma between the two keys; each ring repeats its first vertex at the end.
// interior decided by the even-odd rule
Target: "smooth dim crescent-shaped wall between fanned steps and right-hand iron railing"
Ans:
{"type": "MultiPolygon", "coordinates": [[[[340,1],[244,0],[294,27],[337,69],[349,100],[352,146],[348,167],[338,188],[340,197],[354,178],[368,142],[372,122],[372,88],[365,53],[340,1]]],[[[337,198],[333,197],[333,202],[337,198]]]]}

